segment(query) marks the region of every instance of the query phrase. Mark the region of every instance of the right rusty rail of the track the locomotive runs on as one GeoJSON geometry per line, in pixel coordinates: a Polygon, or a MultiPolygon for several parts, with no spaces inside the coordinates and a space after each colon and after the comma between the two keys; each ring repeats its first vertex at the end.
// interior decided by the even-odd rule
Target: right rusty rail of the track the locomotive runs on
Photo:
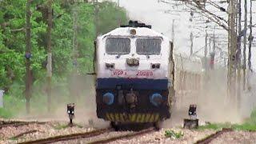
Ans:
{"type": "Polygon", "coordinates": [[[104,139],[99,139],[93,142],[88,142],[88,144],[96,144],[96,143],[108,143],[108,142],[114,142],[117,141],[119,139],[123,139],[123,138],[133,138],[142,134],[148,134],[150,132],[153,132],[155,129],[154,128],[149,128],[146,130],[140,130],[138,132],[131,132],[129,134],[121,134],[115,137],[111,137],[111,138],[104,138],[104,139]]]}

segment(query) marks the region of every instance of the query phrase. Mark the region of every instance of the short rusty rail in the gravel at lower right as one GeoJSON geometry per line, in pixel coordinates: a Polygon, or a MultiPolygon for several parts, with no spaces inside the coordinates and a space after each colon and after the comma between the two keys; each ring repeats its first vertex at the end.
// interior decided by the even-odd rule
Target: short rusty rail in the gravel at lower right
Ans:
{"type": "Polygon", "coordinates": [[[222,130],[217,131],[214,134],[210,134],[208,137],[203,138],[201,140],[199,140],[198,142],[195,142],[196,144],[208,144],[210,143],[212,140],[214,140],[215,138],[218,138],[218,136],[226,133],[226,132],[230,132],[232,131],[232,129],[230,128],[223,128],[222,130]]]}

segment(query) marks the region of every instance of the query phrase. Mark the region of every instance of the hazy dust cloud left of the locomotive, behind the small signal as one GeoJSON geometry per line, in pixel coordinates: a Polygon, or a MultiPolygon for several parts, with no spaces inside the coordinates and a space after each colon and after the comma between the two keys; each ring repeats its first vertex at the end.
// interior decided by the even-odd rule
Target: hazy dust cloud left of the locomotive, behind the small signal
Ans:
{"type": "Polygon", "coordinates": [[[94,81],[94,75],[71,75],[67,83],[54,84],[51,90],[50,112],[47,111],[46,85],[34,88],[42,93],[43,98],[32,100],[30,114],[18,114],[15,118],[68,123],[66,105],[74,103],[74,123],[89,126],[89,121],[92,120],[95,127],[109,126],[109,122],[97,118],[94,81]]]}

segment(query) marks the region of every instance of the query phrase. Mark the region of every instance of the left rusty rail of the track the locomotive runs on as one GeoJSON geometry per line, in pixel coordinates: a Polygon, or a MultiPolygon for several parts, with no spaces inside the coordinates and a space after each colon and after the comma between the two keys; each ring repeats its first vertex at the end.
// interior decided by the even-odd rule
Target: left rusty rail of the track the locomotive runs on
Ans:
{"type": "Polygon", "coordinates": [[[66,134],[66,135],[59,135],[56,137],[50,137],[50,138],[42,138],[42,139],[37,139],[34,141],[27,141],[27,142],[19,142],[19,144],[43,144],[43,143],[52,143],[52,142],[60,142],[60,141],[68,141],[72,139],[79,139],[79,138],[90,138],[94,137],[100,134],[104,134],[106,132],[111,131],[112,129],[107,128],[107,129],[101,129],[101,130],[93,130],[90,132],[85,132],[85,133],[77,133],[77,134],[66,134]]]}

